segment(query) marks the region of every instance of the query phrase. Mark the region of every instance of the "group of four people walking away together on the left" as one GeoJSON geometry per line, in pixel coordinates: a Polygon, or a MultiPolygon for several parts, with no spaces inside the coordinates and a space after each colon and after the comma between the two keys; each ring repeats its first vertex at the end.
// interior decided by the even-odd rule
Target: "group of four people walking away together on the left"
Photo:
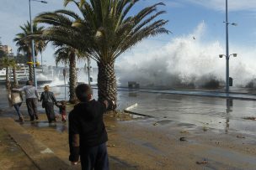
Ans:
{"type": "Polygon", "coordinates": [[[45,108],[45,113],[49,123],[56,121],[56,115],[54,112],[54,105],[58,106],[61,114],[61,121],[66,122],[66,102],[57,102],[53,92],[50,91],[50,86],[45,85],[44,92],[39,96],[37,89],[33,86],[33,82],[28,80],[26,85],[22,88],[18,88],[18,85],[8,85],[8,100],[10,106],[13,106],[19,116],[19,121],[24,121],[24,117],[19,111],[19,107],[23,102],[22,91],[25,94],[25,102],[29,112],[30,121],[39,119],[37,111],[37,102],[42,102],[42,107],[45,108]]]}

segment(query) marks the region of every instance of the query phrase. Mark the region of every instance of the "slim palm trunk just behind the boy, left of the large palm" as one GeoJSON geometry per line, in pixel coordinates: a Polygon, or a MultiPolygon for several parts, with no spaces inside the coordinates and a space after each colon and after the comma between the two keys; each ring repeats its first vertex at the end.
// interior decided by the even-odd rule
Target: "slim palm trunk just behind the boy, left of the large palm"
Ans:
{"type": "Polygon", "coordinates": [[[77,70],[76,70],[76,55],[72,53],[69,58],[69,101],[75,103],[77,96],[75,89],[77,86],[77,70]]]}

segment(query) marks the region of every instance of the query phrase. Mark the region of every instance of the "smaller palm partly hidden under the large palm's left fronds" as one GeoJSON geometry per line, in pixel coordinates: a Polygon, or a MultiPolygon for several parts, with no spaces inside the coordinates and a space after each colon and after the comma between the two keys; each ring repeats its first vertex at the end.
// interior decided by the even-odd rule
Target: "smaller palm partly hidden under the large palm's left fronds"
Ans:
{"type": "Polygon", "coordinates": [[[70,46],[62,45],[55,52],[56,65],[62,62],[69,64],[69,101],[75,103],[77,100],[75,88],[77,86],[77,70],[76,70],[76,54],[77,50],[70,46]]]}

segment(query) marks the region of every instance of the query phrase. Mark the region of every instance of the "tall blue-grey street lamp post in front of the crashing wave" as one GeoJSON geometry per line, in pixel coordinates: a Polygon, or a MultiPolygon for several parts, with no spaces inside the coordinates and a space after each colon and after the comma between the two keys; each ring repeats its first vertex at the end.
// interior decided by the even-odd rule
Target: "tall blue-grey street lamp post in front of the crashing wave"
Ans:
{"type": "Polygon", "coordinates": [[[220,54],[220,58],[222,56],[226,56],[226,92],[229,92],[229,57],[233,55],[234,57],[237,56],[237,54],[229,54],[229,45],[228,45],[228,25],[231,24],[233,26],[237,26],[237,23],[228,23],[228,17],[227,17],[227,0],[226,0],[226,22],[223,23],[226,24],[226,55],[220,54]]]}

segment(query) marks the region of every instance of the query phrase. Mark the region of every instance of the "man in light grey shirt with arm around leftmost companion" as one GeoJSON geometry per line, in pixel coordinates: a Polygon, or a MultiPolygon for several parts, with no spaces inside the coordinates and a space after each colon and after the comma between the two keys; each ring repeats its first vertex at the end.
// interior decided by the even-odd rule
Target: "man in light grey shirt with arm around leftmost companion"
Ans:
{"type": "Polygon", "coordinates": [[[26,85],[20,89],[14,89],[13,91],[24,91],[26,97],[26,105],[28,108],[30,121],[38,120],[38,112],[37,112],[37,101],[39,100],[39,95],[35,86],[33,86],[33,82],[28,80],[26,85]]]}

